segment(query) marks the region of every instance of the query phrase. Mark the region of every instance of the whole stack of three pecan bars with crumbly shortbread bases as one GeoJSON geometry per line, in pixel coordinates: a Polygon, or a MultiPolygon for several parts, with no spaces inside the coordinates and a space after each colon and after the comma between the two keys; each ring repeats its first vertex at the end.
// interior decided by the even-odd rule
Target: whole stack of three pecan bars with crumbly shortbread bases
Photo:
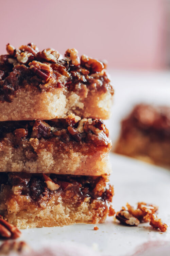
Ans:
{"type": "Polygon", "coordinates": [[[102,119],[114,90],[104,62],[8,44],[0,56],[0,214],[19,228],[113,215],[102,119]],[[102,118],[102,119],[100,119],[102,118]]]}

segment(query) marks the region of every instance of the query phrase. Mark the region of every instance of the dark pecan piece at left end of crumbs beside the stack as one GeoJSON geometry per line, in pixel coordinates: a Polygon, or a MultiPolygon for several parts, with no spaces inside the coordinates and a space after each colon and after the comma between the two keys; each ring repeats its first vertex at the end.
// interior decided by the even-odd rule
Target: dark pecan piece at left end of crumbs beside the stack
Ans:
{"type": "Polygon", "coordinates": [[[118,219],[120,223],[128,226],[138,226],[140,223],[139,220],[130,214],[129,211],[125,210],[124,207],[122,207],[120,212],[116,213],[116,219],[118,219]]]}

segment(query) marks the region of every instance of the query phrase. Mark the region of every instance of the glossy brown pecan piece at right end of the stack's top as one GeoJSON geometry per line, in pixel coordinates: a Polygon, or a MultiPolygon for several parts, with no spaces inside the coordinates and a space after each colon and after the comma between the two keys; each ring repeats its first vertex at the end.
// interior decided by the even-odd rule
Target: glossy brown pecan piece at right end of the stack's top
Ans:
{"type": "Polygon", "coordinates": [[[101,61],[89,58],[86,55],[81,56],[81,65],[87,68],[91,73],[101,72],[104,65],[101,61]]]}

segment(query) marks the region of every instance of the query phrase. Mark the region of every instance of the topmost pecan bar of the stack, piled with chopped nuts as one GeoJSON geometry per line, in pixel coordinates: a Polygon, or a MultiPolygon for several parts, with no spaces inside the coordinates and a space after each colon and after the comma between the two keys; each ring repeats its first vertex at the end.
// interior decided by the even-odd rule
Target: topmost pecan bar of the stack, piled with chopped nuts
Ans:
{"type": "Polygon", "coordinates": [[[68,49],[39,51],[30,43],[0,56],[0,121],[109,118],[113,87],[105,63],[68,49]]]}

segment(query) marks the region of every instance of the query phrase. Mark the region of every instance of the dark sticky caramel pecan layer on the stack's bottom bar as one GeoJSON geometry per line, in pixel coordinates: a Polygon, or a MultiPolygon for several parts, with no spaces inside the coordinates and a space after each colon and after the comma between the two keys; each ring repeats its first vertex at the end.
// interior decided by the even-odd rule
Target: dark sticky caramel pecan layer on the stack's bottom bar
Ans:
{"type": "Polygon", "coordinates": [[[5,186],[10,189],[7,196],[11,199],[16,196],[14,188],[20,188],[19,195],[29,196],[33,204],[38,207],[43,207],[53,197],[61,197],[62,201],[68,205],[78,207],[85,198],[98,200],[98,203],[107,207],[112,202],[114,195],[113,186],[108,183],[108,176],[77,176],[77,175],[48,175],[50,179],[60,187],[57,190],[51,191],[48,189],[43,174],[28,174],[28,173],[0,173],[1,189],[5,186]]]}

